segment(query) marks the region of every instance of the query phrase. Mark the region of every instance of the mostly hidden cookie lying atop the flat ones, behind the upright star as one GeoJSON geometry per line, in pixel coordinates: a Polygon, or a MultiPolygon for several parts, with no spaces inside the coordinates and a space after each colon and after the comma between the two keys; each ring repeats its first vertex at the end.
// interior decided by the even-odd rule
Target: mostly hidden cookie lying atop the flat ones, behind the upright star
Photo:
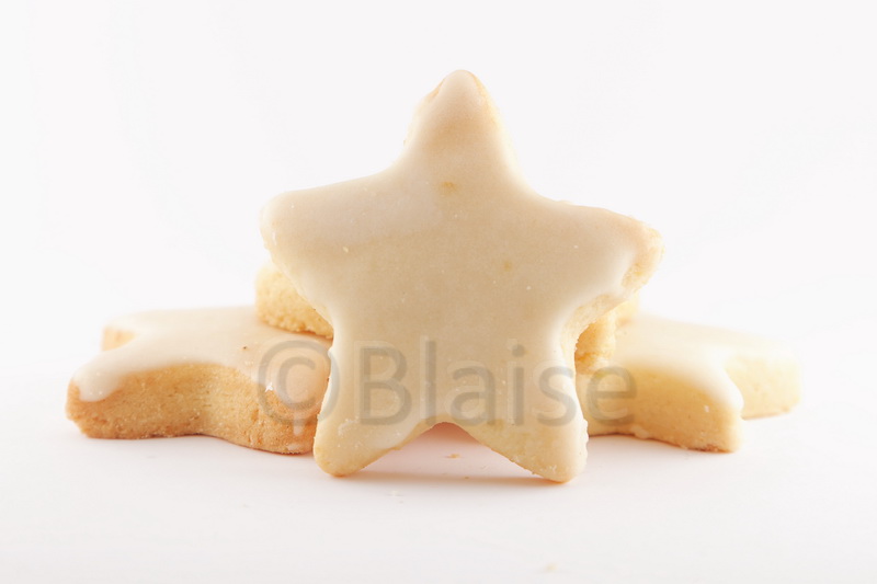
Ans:
{"type": "MultiPolygon", "coordinates": [[[[622,302],[592,322],[576,343],[576,367],[586,369],[612,356],[615,328],[636,311],[636,297],[622,302]]],[[[289,332],[310,332],[332,337],[332,325],[295,289],[293,283],[266,262],[255,277],[255,310],[263,322],[289,332]]]]}

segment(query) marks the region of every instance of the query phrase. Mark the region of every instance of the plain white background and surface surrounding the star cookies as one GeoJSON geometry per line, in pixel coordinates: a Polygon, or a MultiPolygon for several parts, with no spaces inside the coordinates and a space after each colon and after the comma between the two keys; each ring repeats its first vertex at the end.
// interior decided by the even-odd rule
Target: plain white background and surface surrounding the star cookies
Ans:
{"type": "Polygon", "coordinates": [[[0,580],[875,581],[877,10],[574,5],[3,2],[0,580]],[[109,318],[251,302],[260,207],[383,169],[459,68],[540,193],[662,232],[646,308],[798,351],[791,414],[560,486],[454,432],[337,480],[65,420],[109,318]]]}

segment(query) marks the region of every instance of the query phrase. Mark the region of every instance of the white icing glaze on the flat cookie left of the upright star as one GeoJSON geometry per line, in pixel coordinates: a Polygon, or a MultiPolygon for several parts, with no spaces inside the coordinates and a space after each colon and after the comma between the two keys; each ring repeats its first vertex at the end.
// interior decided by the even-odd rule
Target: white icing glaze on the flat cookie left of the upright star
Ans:
{"type": "Polygon", "coordinates": [[[252,307],[141,312],[107,328],[134,337],[73,375],[84,401],[106,398],[129,374],[185,364],[235,368],[287,403],[321,396],[326,388],[329,342],[269,327],[252,307]]]}

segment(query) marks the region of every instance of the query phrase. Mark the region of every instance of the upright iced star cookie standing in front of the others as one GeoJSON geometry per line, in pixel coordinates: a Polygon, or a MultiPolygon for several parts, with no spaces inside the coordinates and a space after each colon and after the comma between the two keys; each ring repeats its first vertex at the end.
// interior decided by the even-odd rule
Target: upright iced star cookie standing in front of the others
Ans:
{"type": "Polygon", "coordinates": [[[314,453],[338,476],[451,422],[537,474],[573,478],[586,442],[576,340],[661,253],[638,221],[529,188],[464,71],[423,100],[396,163],[280,195],[262,234],[334,332],[314,453]]]}

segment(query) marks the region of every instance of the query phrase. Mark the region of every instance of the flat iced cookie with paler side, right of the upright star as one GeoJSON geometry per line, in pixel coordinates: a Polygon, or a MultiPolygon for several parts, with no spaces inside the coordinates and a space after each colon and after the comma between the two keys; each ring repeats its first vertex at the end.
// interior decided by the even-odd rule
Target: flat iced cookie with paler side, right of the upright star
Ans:
{"type": "Polygon", "coordinates": [[[618,328],[608,366],[580,374],[592,436],[697,450],[736,450],[743,417],[785,412],[800,394],[797,360],[782,344],[647,314],[618,328]]]}

